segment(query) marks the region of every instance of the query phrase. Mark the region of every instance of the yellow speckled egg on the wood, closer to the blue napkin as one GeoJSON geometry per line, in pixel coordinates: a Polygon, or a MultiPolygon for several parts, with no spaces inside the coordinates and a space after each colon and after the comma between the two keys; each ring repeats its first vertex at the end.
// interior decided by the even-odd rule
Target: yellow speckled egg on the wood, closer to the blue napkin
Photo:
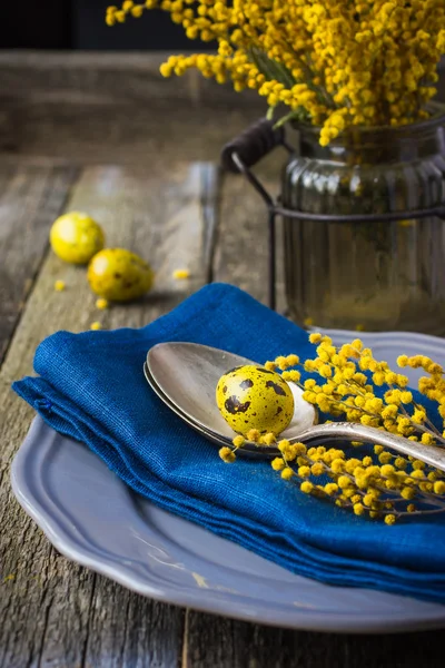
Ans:
{"type": "Polygon", "coordinates": [[[123,248],[100,250],[88,266],[88,283],[92,292],[111,302],[141,297],[151,288],[154,277],[145,259],[123,248]]]}

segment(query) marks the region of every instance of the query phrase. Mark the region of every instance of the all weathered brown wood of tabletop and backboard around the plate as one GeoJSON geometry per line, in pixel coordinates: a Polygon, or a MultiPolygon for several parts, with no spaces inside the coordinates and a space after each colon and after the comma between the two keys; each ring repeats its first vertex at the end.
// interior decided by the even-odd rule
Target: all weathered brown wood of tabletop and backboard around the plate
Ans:
{"type": "MultiPolygon", "coordinates": [[[[222,144],[261,107],[195,76],[165,81],[160,59],[0,55],[0,667],[443,666],[441,632],[298,632],[142,598],[67,561],[12,495],[10,463],[33,412],[10,384],[31,373],[44,336],[97,320],[145,325],[209,281],[265,301],[263,204],[218,168],[222,144]],[[97,218],[108,245],[146,256],[155,292],[98,312],[85,271],[48,248],[52,220],[70,209],[97,218]],[[175,282],[178,267],[191,278],[175,282]],[[56,279],[66,292],[55,292],[56,279]]],[[[261,167],[273,188],[281,160],[261,167]]]]}

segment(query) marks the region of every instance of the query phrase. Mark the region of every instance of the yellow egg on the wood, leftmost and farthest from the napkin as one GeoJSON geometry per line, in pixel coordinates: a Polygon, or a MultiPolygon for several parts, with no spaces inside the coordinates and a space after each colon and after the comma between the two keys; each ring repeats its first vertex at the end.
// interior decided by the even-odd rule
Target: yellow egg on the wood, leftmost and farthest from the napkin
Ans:
{"type": "Polygon", "coordinates": [[[70,212],[52,224],[49,240],[60,259],[72,264],[87,264],[103,248],[102,228],[88,214],[70,212]]]}

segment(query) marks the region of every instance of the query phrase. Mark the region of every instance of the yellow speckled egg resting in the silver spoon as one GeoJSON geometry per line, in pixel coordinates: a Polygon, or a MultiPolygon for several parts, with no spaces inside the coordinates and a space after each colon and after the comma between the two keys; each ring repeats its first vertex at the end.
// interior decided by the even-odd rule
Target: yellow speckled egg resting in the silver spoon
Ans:
{"type": "Polygon", "coordinates": [[[275,371],[263,366],[237,366],[225,373],[216,387],[216,402],[234,431],[279,434],[294,416],[294,395],[275,371]]]}

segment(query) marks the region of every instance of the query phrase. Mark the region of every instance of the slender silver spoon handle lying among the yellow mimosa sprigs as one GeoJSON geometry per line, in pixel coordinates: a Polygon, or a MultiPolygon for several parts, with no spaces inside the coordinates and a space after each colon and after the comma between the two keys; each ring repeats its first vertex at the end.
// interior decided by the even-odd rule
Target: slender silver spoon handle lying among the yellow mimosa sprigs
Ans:
{"type": "Polygon", "coordinates": [[[324,438],[344,441],[365,441],[367,443],[375,443],[376,445],[384,445],[396,452],[414,456],[441,471],[445,471],[445,449],[436,445],[424,445],[416,441],[409,441],[403,436],[375,429],[374,426],[365,426],[352,422],[318,424],[295,436],[291,441],[304,443],[324,438]]]}

